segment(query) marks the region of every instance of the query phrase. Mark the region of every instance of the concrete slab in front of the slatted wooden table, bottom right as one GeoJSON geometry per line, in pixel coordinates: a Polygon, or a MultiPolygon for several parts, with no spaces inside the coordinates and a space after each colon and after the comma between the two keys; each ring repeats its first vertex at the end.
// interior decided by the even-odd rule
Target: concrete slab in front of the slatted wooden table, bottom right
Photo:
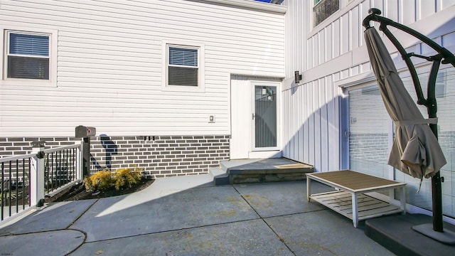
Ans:
{"type": "Polygon", "coordinates": [[[296,255],[394,255],[331,210],[265,220],[296,255]]]}

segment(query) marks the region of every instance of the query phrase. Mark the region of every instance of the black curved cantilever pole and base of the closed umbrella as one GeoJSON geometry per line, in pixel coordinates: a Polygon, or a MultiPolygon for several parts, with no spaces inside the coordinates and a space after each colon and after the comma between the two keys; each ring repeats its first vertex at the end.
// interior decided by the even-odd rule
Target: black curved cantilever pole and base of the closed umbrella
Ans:
{"type": "MultiPolygon", "coordinates": [[[[390,20],[389,18],[385,18],[379,16],[381,11],[379,9],[370,9],[368,10],[368,15],[363,19],[363,26],[365,28],[370,28],[370,21],[377,21],[380,23],[380,30],[385,33],[385,36],[390,39],[392,44],[397,48],[397,50],[402,55],[402,58],[405,60],[407,67],[410,70],[412,80],[414,82],[414,87],[417,92],[417,103],[419,105],[425,105],[428,111],[429,118],[436,118],[437,117],[437,100],[435,95],[435,86],[437,80],[437,73],[439,70],[439,65],[442,63],[448,64],[450,63],[455,67],[455,56],[446,48],[439,46],[437,43],[432,41],[427,36],[422,35],[417,31],[414,31],[412,28],[404,26],[400,23],[390,20]],[[414,55],[413,53],[407,53],[405,48],[403,48],[400,42],[397,41],[397,38],[390,33],[387,29],[387,25],[393,26],[395,28],[400,29],[401,31],[405,31],[409,33],[411,36],[414,36],[421,40],[423,43],[426,43],[428,46],[433,48],[437,51],[438,55],[434,55],[431,57],[424,57],[419,55],[414,55]],[[428,90],[427,90],[427,99],[424,98],[422,93],[422,87],[419,83],[419,78],[417,77],[417,72],[410,60],[411,56],[416,56],[419,58],[425,58],[429,61],[433,61],[432,71],[429,75],[428,80],[428,90]]],[[[438,138],[437,132],[437,124],[429,124],[430,129],[436,138],[438,138]]],[[[444,177],[441,177],[440,171],[438,171],[432,177],[432,208],[433,208],[433,225],[432,224],[422,224],[422,225],[414,225],[412,227],[413,230],[416,230],[423,235],[427,235],[429,238],[433,238],[439,242],[443,242],[449,245],[455,245],[455,233],[450,230],[444,230],[443,226],[443,211],[442,211],[442,185],[441,182],[444,181],[444,177]]]]}

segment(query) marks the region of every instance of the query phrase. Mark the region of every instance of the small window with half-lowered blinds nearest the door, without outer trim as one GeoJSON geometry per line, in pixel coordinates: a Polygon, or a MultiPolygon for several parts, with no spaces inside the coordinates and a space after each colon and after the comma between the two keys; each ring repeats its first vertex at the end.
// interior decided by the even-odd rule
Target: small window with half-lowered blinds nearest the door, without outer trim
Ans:
{"type": "Polygon", "coordinates": [[[168,85],[198,86],[198,48],[168,47],[168,85]]]}

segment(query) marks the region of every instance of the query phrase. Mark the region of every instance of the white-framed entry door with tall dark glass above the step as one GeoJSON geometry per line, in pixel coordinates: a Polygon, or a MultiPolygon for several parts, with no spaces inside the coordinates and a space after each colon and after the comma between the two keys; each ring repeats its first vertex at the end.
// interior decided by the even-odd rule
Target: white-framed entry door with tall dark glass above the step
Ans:
{"type": "Polygon", "coordinates": [[[252,150],[273,151],[279,144],[279,84],[252,82],[252,150]]]}

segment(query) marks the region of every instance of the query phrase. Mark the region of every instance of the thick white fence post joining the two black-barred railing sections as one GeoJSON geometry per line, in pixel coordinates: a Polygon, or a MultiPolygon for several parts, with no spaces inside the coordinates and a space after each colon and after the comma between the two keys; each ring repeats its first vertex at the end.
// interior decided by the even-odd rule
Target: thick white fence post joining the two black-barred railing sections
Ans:
{"type": "Polygon", "coordinates": [[[30,199],[32,206],[44,203],[44,142],[33,142],[30,174],[30,199]]]}

